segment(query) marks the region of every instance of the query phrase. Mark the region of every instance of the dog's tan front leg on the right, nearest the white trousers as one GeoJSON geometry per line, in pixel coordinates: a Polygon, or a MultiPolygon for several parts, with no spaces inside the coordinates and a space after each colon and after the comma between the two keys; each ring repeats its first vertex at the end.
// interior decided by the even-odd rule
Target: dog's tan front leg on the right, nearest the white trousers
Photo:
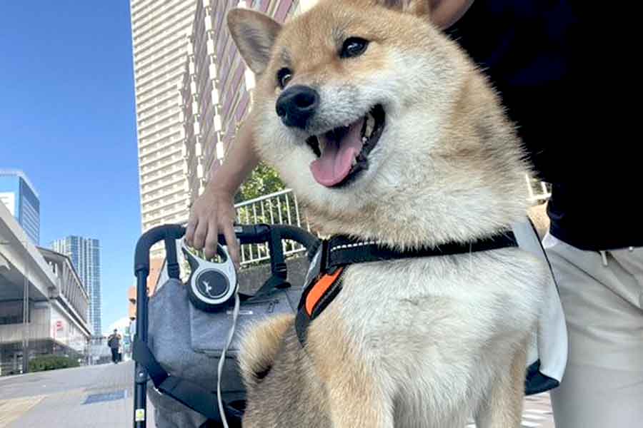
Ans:
{"type": "Polygon", "coordinates": [[[519,428],[522,419],[526,343],[513,357],[506,373],[499,376],[476,415],[478,428],[519,428]]]}

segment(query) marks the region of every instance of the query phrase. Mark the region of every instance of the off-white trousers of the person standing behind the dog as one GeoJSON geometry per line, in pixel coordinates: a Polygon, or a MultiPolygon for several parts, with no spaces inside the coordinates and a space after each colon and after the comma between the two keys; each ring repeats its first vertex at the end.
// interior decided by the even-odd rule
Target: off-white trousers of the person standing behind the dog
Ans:
{"type": "Polygon", "coordinates": [[[557,428],[643,427],[643,248],[602,256],[548,235],[569,360],[551,393],[557,428]]]}

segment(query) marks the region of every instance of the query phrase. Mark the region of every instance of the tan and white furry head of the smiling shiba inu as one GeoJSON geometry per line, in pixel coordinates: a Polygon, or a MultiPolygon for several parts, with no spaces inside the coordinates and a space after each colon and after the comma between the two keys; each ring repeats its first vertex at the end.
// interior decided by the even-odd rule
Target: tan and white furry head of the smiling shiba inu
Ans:
{"type": "Polygon", "coordinates": [[[514,129],[429,0],[322,0],[231,34],[259,76],[256,148],[316,227],[398,247],[471,240],[524,215],[514,129]]]}

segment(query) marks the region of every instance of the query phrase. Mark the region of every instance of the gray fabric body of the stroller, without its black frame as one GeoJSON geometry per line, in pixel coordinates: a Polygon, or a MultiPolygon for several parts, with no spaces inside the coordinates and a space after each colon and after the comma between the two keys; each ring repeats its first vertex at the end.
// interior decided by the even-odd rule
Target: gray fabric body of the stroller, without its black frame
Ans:
{"type": "MultiPolygon", "coordinates": [[[[245,390],[236,357],[241,334],[255,322],[296,312],[301,288],[274,290],[266,297],[241,302],[234,339],[226,353],[221,379],[224,401],[243,400],[245,390]]],[[[185,285],[170,279],[150,297],[149,348],[171,375],[191,380],[216,393],[217,365],[232,322],[232,308],[203,312],[189,302],[185,285]]],[[[156,391],[148,382],[156,427],[199,427],[206,417],[156,391]]]]}

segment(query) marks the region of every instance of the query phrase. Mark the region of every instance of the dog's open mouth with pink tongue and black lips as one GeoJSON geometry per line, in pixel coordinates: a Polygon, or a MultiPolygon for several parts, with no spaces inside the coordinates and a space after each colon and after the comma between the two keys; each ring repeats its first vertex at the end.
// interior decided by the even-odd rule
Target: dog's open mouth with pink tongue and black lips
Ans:
{"type": "Polygon", "coordinates": [[[369,168],[369,153],[377,145],[384,131],[384,108],[374,106],[359,121],[334,128],[319,136],[311,136],[306,143],[318,159],[310,164],[317,183],[339,187],[350,183],[369,168]]]}

